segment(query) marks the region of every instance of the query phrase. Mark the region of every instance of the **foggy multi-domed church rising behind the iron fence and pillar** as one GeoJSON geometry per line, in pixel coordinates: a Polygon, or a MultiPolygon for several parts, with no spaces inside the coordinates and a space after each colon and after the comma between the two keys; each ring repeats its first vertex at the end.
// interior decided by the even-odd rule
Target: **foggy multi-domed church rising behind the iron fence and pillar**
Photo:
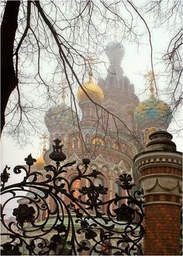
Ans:
{"type": "MultiPolygon", "coordinates": [[[[133,157],[143,151],[150,133],[167,130],[171,110],[167,103],[156,98],[152,72],[148,74],[150,97],[140,103],[133,84],[121,67],[125,54],[122,44],[108,44],[105,53],[110,62],[106,78],[98,79],[98,84],[95,84],[90,67],[88,81],[78,88],[81,119],[65,100],[47,111],[44,120],[50,134],[50,148],[43,150],[43,156],[36,161],[35,167],[43,170],[43,166],[50,163],[52,145],[58,138],[64,144],[67,161],[81,163],[83,158],[91,159],[91,169],[100,170],[103,174],[95,183],[109,188],[108,197],[113,198],[116,193],[122,193],[118,184],[120,174],[132,174],[136,180],[133,157]]],[[[67,181],[74,175],[71,168],[67,181]]],[[[81,181],[73,184],[76,197],[83,185],[81,181]]]]}

